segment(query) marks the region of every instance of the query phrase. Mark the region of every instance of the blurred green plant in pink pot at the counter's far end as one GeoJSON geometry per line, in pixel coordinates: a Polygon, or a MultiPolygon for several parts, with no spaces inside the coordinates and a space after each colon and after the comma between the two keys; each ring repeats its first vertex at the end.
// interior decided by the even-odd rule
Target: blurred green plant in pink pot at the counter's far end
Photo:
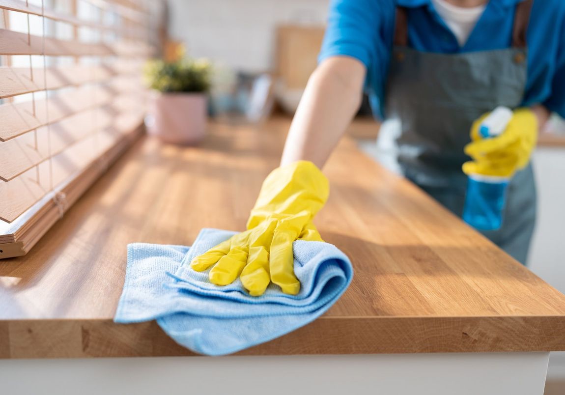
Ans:
{"type": "Polygon", "coordinates": [[[145,80],[154,90],[149,134],[164,142],[195,144],[206,131],[211,65],[204,59],[149,60],[145,80]]]}

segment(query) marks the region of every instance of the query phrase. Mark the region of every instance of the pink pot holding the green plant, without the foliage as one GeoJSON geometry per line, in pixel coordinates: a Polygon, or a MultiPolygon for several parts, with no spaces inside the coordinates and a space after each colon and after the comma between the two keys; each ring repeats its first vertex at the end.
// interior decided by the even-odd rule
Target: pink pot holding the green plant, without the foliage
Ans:
{"type": "Polygon", "coordinates": [[[206,134],[206,94],[155,92],[151,115],[147,133],[164,142],[196,144],[206,134]]]}

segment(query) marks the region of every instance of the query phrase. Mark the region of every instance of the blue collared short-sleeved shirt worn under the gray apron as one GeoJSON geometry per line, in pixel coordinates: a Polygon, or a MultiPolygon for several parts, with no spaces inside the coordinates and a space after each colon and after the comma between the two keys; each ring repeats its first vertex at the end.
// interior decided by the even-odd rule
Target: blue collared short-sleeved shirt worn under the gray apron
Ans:
{"type": "MultiPolygon", "coordinates": [[[[455,54],[510,47],[514,10],[519,1],[490,0],[467,42],[460,47],[431,0],[332,0],[319,59],[321,62],[345,55],[363,62],[368,92],[382,103],[397,5],[408,7],[410,47],[455,54]]],[[[522,105],[541,103],[565,117],[564,0],[533,2],[527,44],[528,78],[522,105]]]]}

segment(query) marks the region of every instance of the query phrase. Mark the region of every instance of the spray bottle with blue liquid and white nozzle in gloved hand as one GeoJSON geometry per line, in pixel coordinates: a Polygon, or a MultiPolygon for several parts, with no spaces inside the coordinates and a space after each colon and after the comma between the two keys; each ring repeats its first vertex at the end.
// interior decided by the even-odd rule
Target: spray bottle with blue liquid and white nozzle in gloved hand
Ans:
{"type": "MultiPolygon", "coordinates": [[[[513,112],[507,107],[497,107],[479,127],[483,138],[495,137],[505,129],[513,112]]],[[[470,174],[463,207],[463,220],[481,231],[494,231],[502,226],[506,190],[510,178],[470,174]]]]}

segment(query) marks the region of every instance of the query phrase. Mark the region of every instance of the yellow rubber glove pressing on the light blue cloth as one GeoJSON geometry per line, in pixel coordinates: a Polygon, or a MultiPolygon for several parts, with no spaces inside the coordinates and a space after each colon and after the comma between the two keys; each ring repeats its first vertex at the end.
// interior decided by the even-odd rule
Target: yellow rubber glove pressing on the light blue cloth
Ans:
{"type": "Polygon", "coordinates": [[[195,257],[190,266],[200,272],[214,265],[208,277],[216,285],[231,284],[239,276],[252,296],[262,295],[271,281],[282,292],[297,294],[292,243],[322,241],[312,218],[328,195],[328,180],[312,162],[273,170],[251,210],[247,231],[195,257]]]}

